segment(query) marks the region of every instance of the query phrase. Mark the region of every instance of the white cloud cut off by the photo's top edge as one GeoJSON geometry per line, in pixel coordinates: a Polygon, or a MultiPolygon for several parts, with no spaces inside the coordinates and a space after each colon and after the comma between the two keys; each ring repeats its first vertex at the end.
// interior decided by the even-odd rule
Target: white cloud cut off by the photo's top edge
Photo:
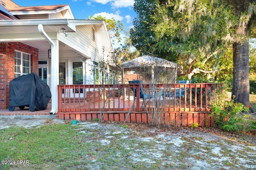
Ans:
{"type": "Polygon", "coordinates": [[[132,7],[134,0],[92,0],[100,4],[107,4],[110,2],[112,8],[132,7]]]}

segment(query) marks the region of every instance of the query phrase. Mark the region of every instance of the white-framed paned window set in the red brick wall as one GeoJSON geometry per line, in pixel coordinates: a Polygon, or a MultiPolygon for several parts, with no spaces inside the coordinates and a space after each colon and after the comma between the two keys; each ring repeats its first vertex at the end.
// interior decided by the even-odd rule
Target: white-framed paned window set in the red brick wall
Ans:
{"type": "Polygon", "coordinates": [[[14,74],[15,78],[30,74],[30,54],[22,53],[20,51],[14,52],[14,74]]]}

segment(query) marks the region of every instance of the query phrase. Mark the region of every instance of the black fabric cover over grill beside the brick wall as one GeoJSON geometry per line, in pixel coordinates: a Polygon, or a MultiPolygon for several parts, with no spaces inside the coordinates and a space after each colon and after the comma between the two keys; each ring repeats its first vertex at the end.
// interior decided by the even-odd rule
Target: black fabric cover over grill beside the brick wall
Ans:
{"type": "Polygon", "coordinates": [[[35,73],[10,81],[10,107],[29,106],[30,111],[45,110],[51,98],[49,86],[35,73]]]}

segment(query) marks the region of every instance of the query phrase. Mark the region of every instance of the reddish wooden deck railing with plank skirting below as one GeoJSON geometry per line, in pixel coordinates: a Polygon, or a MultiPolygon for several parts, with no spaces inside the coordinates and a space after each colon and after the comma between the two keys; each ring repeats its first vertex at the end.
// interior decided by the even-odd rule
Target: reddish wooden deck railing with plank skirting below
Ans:
{"type": "Polygon", "coordinates": [[[210,106],[220,87],[214,83],[58,85],[59,116],[91,120],[104,113],[103,120],[150,123],[152,115],[158,115],[161,124],[212,126],[210,106]],[[148,99],[140,98],[140,91],[148,99]]]}

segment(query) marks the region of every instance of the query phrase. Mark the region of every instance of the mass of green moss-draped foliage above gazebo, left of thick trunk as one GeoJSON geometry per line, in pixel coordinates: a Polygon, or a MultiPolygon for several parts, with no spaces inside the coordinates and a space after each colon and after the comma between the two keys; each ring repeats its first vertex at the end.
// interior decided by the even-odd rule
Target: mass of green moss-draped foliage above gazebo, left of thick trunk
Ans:
{"type": "Polygon", "coordinates": [[[238,22],[225,3],[203,0],[136,0],[138,17],[131,31],[133,45],[142,53],[177,62],[178,75],[215,72],[219,57],[230,43],[232,24],[238,22]],[[230,24],[232,23],[232,24],[230,24]],[[231,28],[230,28],[231,27],[231,28]]]}

